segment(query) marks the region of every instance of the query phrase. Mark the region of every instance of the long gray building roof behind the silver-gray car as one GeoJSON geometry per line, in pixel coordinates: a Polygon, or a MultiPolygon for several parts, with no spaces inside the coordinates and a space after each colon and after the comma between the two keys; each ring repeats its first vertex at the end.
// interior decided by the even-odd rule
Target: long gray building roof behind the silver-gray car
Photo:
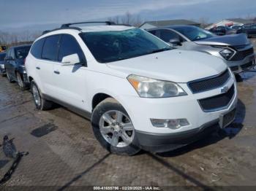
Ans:
{"type": "Polygon", "coordinates": [[[146,21],[141,26],[143,26],[146,23],[152,26],[173,26],[173,25],[199,26],[200,25],[200,23],[196,23],[192,20],[178,19],[178,20],[146,21]]]}

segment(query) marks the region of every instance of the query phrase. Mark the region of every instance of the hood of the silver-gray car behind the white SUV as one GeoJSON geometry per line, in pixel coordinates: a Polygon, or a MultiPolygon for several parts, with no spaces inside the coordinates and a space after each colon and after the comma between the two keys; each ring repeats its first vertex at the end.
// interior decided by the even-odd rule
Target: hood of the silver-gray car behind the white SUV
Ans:
{"type": "Polygon", "coordinates": [[[214,36],[208,39],[194,41],[201,45],[217,45],[217,46],[239,46],[249,44],[245,34],[231,34],[225,36],[214,36]]]}

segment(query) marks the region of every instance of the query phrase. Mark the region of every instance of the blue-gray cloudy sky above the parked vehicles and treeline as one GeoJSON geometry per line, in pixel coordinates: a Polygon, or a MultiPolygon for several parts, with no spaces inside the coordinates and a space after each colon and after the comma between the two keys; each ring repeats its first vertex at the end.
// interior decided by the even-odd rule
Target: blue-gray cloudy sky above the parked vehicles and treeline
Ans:
{"type": "Polygon", "coordinates": [[[0,31],[50,29],[61,23],[106,20],[129,11],[143,20],[256,17],[255,0],[0,0],[0,31]],[[3,9],[4,8],[4,9],[3,9]]]}

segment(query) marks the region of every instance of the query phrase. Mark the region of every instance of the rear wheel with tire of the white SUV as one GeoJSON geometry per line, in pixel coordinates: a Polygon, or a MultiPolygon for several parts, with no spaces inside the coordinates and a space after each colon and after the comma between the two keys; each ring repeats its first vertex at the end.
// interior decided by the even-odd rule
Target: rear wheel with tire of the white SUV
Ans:
{"type": "Polygon", "coordinates": [[[31,81],[31,93],[33,95],[34,104],[36,105],[37,109],[45,111],[52,108],[53,102],[42,98],[42,94],[40,93],[39,88],[37,87],[37,84],[34,82],[34,80],[31,81]]]}

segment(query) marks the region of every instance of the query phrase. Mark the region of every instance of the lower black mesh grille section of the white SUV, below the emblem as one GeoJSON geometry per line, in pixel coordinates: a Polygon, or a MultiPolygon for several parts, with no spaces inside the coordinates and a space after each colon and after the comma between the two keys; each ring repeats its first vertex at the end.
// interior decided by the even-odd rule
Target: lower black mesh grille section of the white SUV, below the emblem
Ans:
{"type": "Polygon", "coordinates": [[[219,95],[215,95],[210,98],[203,98],[198,100],[201,108],[204,112],[212,112],[217,111],[219,109],[224,109],[230,104],[231,99],[235,93],[234,85],[230,87],[227,93],[222,93],[219,95]]]}

